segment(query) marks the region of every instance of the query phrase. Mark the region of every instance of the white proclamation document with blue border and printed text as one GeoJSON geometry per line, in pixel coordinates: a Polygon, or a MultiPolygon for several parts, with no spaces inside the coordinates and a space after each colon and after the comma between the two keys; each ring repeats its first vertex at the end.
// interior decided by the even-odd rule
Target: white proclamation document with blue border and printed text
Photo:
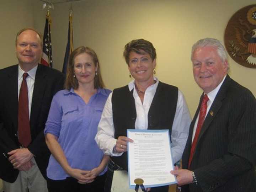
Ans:
{"type": "Polygon", "coordinates": [[[127,129],[129,187],[135,179],[142,179],[144,187],[158,187],[177,183],[170,174],[174,170],[169,130],[127,129]]]}

